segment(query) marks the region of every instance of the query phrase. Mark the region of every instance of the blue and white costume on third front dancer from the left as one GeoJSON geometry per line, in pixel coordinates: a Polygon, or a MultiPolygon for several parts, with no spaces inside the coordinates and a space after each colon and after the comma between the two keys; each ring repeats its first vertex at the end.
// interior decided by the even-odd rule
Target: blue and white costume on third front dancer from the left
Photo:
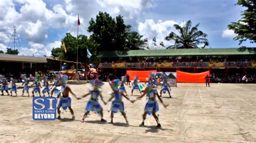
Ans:
{"type": "Polygon", "coordinates": [[[122,101],[121,93],[112,92],[111,95],[114,96],[114,101],[111,104],[111,111],[113,113],[117,113],[118,111],[124,112],[124,102],[122,101]]]}

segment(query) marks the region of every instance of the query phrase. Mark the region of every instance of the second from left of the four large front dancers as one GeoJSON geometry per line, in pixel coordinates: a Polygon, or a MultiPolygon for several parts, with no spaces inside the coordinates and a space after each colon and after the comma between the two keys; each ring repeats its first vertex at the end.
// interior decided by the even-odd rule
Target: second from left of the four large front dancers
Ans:
{"type": "Polygon", "coordinates": [[[91,99],[87,102],[87,105],[85,106],[85,113],[81,122],[84,123],[84,119],[87,117],[87,115],[89,115],[90,111],[97,112],[98,115],[100,115],[100,118],[101,118],[100,121],[106,121],[105,119],[103,119],[102,106],[98,102],[98,98],[100,96],[103,103],[106,104],[102,96],[102,91],[99,90],[99,88],[102,87],[104,83],[98,80],[98,78],[96,78],[96,80],[91,80],[90,84],[92,85],[92,89],[90,89],[87,94],[83,95],[83,97],[91,95],[91,99]]]}

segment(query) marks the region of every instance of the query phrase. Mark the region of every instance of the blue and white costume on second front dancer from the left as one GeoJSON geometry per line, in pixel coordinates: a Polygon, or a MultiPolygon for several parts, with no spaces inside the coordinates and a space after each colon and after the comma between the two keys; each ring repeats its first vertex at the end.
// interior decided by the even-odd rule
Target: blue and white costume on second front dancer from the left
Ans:
{"type": "Polygon", "coordinates": [[[98,114],[100,113],[102,106],[100,106],[98,102],[99,94],[101,91],[97,89],[97,92],[94,92],[93,90],[89,91],[91,94],[91,99],[85,106],[86,111],[96,111],[98,114]]]}

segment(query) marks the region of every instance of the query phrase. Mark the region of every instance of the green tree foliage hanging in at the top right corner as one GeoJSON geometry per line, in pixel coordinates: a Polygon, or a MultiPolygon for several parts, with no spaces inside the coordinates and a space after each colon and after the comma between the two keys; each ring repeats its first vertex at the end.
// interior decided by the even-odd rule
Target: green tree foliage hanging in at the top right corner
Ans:
{"type": "Polygon", "coordinates": [[[239,45],[247,39],[250,42],[256,42],[256,1],[255,0],[238,0],[237,4],[247,8],[242,11],[242,18],[238,22],[232,22],[227,25],[228,29],[234,30],[237,37],[234,40],[239,40],[239,45]]]}

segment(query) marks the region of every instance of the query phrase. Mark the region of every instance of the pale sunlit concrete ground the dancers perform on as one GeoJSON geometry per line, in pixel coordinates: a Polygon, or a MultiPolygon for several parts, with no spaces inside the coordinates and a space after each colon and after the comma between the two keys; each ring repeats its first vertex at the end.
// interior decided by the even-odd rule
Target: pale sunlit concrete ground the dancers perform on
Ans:
{"type": "MultiPolygon", "coordinates": [[[[89,84],[70,85],[73,92],[82,96],[89,84]]],[[[130,88],[126,87],[128,94],[130,88]]],[[[32,89],[30,89],[31,91],[32,89]]],[[[103,86],[104,99],[111,91],[103,86]]],[[[100,122],[91,113],[80,123],[89,97],[72,98],[76,120],[71,121],[70,111],[62,111],[62,119],[54,121],[32,120],[32,98],[0,96],[0,142],[244,142],[256,141],[256,84],[205,84],[178,83],[172,88],[172,97],[163,96],[170,106],[159,104],[162,128],[147,116],[145,127],[139,127],[146,97],[134,104],[123,99],[130,126],[120,113],[114,115],[114,124],[100,122]]],[[[134,92],[134,95],[138,92],[134,92]]],[[[131,97],[136,98],[137,96],[131,97]]],[[[99,100],[100,101],[100,100],[99,100]]],[[[103,105],[104,118],[110,121],[110,105],[103,105]]]]}

